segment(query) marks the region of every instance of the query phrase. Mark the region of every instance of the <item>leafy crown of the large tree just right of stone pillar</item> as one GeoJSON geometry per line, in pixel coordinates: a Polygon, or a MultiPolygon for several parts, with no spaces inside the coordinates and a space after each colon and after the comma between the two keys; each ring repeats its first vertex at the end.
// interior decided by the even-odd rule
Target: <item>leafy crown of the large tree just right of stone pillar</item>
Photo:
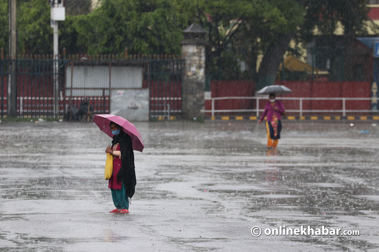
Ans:
{"type": "MultiPolygon", "coordinates": [[[[207,73],[213,74],[213,78],[225,75],[222,71],[235,69],[223,62],[223,57],[230,56],[223,52],[243,44],[245,49],[234,55],[244,54],[246,58],[247,53],[250,62],[254,62],[257,54],[265,52],[278,34],[291,31],[303,22],[304,10],[293,0],[176,0],[176,3],[189,22],[195,20],[208,31],[207,73]]],[[[235,64],[236,60],[231,63],[235,64]]]]}

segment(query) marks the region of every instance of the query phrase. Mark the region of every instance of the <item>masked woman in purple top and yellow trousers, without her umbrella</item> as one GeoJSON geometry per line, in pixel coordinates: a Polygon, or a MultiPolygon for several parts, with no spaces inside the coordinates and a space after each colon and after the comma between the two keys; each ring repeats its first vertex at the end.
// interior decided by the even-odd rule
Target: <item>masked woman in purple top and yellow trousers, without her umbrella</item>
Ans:
{"type": "Polygon", "coordinates": [[[283,104],[275,99],[275,94],[271,93],[269,101],[266,103],[265,111],[263,111],[262,117],[259,120],[259,124],[266,118],[267,128],[267,148],[276,148],[278,139],[280,139],[280,131],[282,130],[281,114],[284,113],[283,104]]]}

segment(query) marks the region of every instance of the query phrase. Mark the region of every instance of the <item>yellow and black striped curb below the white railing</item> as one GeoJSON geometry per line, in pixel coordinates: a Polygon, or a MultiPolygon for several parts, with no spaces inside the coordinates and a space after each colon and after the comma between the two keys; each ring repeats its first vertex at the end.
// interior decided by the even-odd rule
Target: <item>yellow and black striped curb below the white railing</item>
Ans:
{"type": "MultiPolygon", "coordinates": [[[[257,116],[211,116],[204,117],[204,120],[211,121],[257,121],[260,118],[257,116]]],[[[266,118],[265,118],[266,119],[266,118]]],[[[348,120],[348,121],[365,121],[365,120],[379,120],[379,116],[287,116],[282,117],[282,120],[313,120],[313,121],[338,121],[338,120],[348,120]]]]}

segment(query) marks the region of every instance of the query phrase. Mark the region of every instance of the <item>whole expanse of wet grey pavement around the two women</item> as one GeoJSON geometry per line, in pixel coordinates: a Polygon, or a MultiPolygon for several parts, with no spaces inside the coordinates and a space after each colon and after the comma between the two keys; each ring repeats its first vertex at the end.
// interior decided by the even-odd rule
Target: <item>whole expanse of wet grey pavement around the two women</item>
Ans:
{"type": "Polygon", "coordinates": [[[277,150],[256,122],[136,123],[121,215],[96,125],[2,122],[0,250],[379,251],[379,126],[350,123],[283,122],[277,150]],[[264,234],[283,225],[360,235],[264,234]]]}

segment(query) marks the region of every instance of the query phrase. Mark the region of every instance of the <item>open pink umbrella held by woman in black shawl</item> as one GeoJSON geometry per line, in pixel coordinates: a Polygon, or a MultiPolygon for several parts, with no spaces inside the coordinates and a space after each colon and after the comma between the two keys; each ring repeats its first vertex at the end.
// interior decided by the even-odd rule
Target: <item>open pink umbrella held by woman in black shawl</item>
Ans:
{"type": "Polygon", "coordinates": [[[143,144],[141,134],[136,129],[136,127],[130,123],[127,119],[122,118],[121,116],[115,116],[113,114],[95,114],[94,119],[92,120],[99,126],[100,130],[103,131],[106,135],[113,138],[111,127],[109,126],[110,122],[114,122],[122,127],[122,131],[127,133],[133,142],[133,150],[138,150],[142,152],[145,145],[143,144]]]}

